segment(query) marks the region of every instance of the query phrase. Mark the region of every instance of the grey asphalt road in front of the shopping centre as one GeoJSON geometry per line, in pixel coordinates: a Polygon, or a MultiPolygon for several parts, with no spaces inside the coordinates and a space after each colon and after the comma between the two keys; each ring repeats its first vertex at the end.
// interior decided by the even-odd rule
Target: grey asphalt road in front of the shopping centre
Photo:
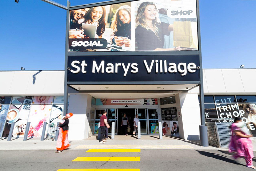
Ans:
{"type": "MultiPolygon", "coordinates": [[[[58,169],[252,170],[244,159],[236,163],[225,150],[141,150],[126,153],[86,153],[87,150],[0,150],[1,171],[58,169]],[[77,157],[140,157],[140,161],[72,161],[77,157]]],[[[256,155],[256,153],[254,154],[256,155]]],[[[256,159],[254,159],[256,166],[256,159]]]]}

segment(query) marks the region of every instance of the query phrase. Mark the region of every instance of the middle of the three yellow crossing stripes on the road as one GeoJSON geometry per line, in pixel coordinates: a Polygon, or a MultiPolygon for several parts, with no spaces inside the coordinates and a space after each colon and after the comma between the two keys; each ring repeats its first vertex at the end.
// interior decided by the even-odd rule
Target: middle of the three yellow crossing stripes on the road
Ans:
{"type": "Polygon", "coordinates": [[[77,157],[72,161],[140,161],[140,157],[77,157]]]}

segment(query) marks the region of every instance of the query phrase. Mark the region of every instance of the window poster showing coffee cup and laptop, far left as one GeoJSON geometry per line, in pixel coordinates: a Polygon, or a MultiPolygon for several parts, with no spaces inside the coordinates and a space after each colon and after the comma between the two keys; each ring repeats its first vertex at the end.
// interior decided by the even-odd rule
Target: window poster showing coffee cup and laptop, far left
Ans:
{"type": "Polygon", "coordinates": [[[8,110],[3,137],[9,135],[12,122],[15,122],[12,137],[23,137],[32,103],[32,96],[14,96],[8,110]]]}

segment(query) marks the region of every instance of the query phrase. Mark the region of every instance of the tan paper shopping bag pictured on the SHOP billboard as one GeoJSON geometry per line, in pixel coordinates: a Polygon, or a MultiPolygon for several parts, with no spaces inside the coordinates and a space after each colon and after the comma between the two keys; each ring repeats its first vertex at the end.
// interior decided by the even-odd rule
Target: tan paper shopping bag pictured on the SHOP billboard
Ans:
{"type": "Polygon", "coordinates": [[[198,49],[197,22],[173,22],[173,46],[198,49]]]}

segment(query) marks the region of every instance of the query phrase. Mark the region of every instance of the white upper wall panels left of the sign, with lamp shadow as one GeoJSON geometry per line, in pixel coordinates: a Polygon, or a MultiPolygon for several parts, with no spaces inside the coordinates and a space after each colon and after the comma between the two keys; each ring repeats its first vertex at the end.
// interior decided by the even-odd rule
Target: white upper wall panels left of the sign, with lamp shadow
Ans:
{"type": "Polygon", "coordinates": [[[63,95],[64,71],[0,72],[0,95],[63,95]]]}

